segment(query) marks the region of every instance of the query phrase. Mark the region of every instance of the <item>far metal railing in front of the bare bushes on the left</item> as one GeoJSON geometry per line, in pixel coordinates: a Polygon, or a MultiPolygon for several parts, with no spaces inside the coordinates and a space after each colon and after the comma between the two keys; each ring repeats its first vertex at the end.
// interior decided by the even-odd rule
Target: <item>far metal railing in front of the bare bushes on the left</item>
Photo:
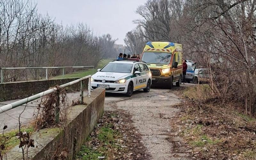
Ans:
{"type": "MultiPolygon", "coordinates": [[[[93,68],[94,66],[70,66],[70,67],[9,67],[0,68],[1,83],[4,83],[4,70],[10,69],[45,69],[45,79],[48,79],[48,68],[62,68],[62,78],[64,78],[65,68],[93,68]]],[[[92,70],[93,71],[93,70],[92,70]]]]}

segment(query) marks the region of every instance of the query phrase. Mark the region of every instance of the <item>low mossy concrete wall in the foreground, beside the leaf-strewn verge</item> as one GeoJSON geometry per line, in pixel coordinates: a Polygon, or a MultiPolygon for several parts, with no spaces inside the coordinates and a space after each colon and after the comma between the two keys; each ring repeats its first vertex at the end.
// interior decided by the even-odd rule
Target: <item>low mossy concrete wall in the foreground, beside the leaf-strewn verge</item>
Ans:
{"type": "MultiPolygon", "coordinates": [[[[84,100],[87,105],[77,105],[69,110],[66,129],[46,128],[32,135],[36,147],[28,149],[29,159],[52,159],[64,150],[68,153],[68,159],[74,159],[76,151],[84,144],[103,113],[105,89],[95,89],[92,96],[84,100]]],[[[7,160],[23,159],[21,153],[21,148],[16,146],[7,153],[7,160]]]]}

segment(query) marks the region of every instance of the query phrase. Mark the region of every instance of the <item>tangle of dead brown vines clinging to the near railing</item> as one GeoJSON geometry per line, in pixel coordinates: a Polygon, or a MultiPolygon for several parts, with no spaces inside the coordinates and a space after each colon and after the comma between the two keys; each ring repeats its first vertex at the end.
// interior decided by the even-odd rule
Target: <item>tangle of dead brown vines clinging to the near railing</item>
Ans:
{"type": "Polygon", "coordinates": [[[58,90],[45,95],[38,105],[38,113],[34,123],[36,130],[56,124],[56,109],[59,108],[60,121],[67,119],[67,94],[64,88],[54,86],[58,90]],[[57,107],[59,106],[59,107],[57,107]]]}

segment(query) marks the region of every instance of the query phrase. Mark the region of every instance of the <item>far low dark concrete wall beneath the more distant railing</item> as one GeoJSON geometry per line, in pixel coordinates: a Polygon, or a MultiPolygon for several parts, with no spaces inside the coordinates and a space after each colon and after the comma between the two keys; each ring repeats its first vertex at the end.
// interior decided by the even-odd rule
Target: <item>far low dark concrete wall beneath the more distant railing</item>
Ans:
{"type": "MultiPolygon", "coordinates": [[[[10,82],[0,84],[0,100],[12,100],[25,98],[30,95],[43,92],[55,85],[65,84],[74,81],[77,78],[65,78],[65,79],[51,79],[51,80],[38,80],[38,81],[28,81],[28,82],[10,82]]],[[[88,79],[84,81],[85,87],[88,86],[88,79]]],[[[80,90],[80,83],[76,83],[69,86],[68,89],[80,90]]]]}

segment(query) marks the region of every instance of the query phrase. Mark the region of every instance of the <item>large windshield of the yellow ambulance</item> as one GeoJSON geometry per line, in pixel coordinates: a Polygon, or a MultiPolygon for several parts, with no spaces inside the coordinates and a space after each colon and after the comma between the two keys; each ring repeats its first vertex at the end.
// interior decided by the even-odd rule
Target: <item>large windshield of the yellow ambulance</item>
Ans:
{"type": "Polygon", "coordinates": [[[169,64],[171,60],[171,53],[164,52],[144,52],[141,60],[146,63],[154,64],[169,64]]]}

